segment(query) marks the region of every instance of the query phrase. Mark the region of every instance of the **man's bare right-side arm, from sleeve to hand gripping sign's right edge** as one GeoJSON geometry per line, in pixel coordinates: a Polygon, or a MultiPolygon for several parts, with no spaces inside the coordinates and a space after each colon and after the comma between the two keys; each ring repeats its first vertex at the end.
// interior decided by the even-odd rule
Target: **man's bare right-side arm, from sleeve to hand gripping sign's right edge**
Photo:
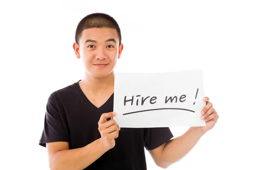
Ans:
{"type": "Polygon", "coordinates": [[[190,127],[182,136],[169,140],[160,147],[150,150],[155,163],[162,168],[167,168],[171,164],[182,159],[197,144],[199,139],[218,121],[218,113],[209,102],[209,97],[205,97],[205,107],[201,111],[202,119],[206,121],[206,125],[202,127],[190,127]]]}

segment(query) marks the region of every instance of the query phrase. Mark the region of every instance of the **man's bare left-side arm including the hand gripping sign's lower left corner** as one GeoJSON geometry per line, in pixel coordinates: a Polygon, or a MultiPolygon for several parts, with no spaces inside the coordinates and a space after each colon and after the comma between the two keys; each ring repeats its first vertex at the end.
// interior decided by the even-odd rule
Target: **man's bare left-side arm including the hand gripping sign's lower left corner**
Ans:
{"type": "Polygon", "coordinates": [[[116,113],[103,113],[98,122],[101,138],[84,147],[69,150],[68,142],[47,143],[51,170],[82,170],[112,149],[120,127],[113,119],[116,113]],[[111,117],[111,120],[107,121],[111,117]]]}

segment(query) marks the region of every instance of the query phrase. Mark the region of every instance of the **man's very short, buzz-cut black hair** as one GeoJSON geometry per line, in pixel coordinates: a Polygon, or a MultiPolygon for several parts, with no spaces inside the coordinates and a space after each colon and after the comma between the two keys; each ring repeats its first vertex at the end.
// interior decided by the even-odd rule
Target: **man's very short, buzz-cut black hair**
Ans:
{"type": "Polygon", "coordinates": [[[105,13],[93,13],[88,14],[79,22],[76,27],[75,40],[79,45],[79,39],[81,38],[84,29],[88,28],[114,28],[117,31],[119,37],[119,45],[121,44],[121,31],[116,20],[108,14],[105,13]]]}

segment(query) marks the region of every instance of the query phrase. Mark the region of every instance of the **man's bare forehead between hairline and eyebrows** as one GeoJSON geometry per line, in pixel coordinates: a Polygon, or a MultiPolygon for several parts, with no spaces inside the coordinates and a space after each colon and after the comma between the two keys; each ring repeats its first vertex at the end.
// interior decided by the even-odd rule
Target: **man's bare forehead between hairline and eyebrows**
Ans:
{"type": "Polygon", "coordinates": [[[88,28],[84,29],[81,35],[81,41],[87,39],[96,40],[96,41],[105,41],[107,39],[114,38],[116,42],[118,40],[118,34],[116,29],[113,28],[88,28]]]}

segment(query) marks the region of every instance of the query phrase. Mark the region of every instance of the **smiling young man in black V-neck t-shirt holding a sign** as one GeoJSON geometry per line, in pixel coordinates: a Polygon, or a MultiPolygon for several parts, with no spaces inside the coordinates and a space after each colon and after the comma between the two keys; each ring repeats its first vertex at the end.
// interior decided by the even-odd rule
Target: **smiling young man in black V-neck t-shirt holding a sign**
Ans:
{"type": "Polygon", "coordinates": [[[122,128],[113,119],[114,72],[123,50],[116,20],[102,13],[84,17],[73,48],[84,78],[53,92],[39,141],[51,170],[146,170],[144,147],[159,167],[182,159],[218,120],[209,102],[205,127],[190,127],[175,139],[168,127],[122,128]],[[170,140],[172,139],[172,140],[170,140]]]}

